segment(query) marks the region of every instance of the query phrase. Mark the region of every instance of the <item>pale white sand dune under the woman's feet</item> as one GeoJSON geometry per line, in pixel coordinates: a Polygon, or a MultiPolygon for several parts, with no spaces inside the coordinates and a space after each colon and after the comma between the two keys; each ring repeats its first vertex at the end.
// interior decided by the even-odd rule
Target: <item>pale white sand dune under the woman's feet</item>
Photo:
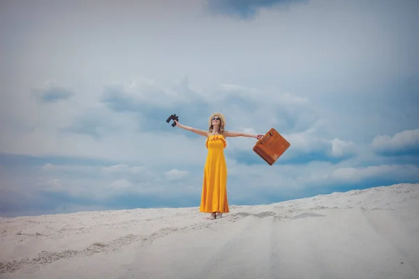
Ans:
{"type": "Polygon", "coordinates": [[[0,278],[419,278],[419,184],[0,219],[0,278]]]}

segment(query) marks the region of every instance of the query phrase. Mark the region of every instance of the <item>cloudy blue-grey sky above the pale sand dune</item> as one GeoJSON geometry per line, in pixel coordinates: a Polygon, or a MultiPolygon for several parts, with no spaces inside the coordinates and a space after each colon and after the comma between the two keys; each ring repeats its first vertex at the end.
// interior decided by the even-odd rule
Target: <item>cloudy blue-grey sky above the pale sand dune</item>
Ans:
{"type": "MultiPolygon", "coordinates": [[[[206,130],[230,205],[419,182],[419,1],[0,3],[0,216],[200,204],[206,130]]],[[[198,210],[198,209],[197,209],[198,210]]]]}

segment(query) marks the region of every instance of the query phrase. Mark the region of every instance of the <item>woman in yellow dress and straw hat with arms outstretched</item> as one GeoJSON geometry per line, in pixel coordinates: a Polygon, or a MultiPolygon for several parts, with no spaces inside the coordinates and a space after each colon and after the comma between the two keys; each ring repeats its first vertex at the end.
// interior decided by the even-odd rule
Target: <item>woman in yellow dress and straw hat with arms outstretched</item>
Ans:
{"type": "Polygon", "coordinates": [[[263,135],[249,135],[241,132],[228,132],[224,130],[226,119],[223,114],[214,113],[210,117],[210,128],[198,130],[184,126],[176,121],[176,127],[189,130],[198,135],[207,137],[207,160],[204,167],[203,190],[200,201],[200,212],[211,213],[211,219],[221,217],[222,213],[230,212],[227,200],[227,165],[224,157],[226,137],[254,137],[257,140],[263,135]]]}

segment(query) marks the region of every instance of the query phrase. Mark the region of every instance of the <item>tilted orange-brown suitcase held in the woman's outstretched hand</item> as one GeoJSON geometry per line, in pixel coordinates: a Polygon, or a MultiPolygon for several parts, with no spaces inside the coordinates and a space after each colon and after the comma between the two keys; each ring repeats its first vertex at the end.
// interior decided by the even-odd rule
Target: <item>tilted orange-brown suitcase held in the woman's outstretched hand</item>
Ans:
{"type": "Polygon", "coordinates": [[[279,135],[277,130],[271,128],[256,142],[255,146],[253,146],[253,151],[266,163],[273,165],[289,146],[291,144],[279,135]]]}

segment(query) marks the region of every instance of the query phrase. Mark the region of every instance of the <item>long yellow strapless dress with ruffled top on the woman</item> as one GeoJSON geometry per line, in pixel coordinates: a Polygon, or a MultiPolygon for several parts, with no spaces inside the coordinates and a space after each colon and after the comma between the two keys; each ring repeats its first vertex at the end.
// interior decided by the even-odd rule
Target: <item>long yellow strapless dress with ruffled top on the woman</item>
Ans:
{"type": "Polygon", "coordinates": [[[210,135],[205,142],[207,160],[204,167],[203,191],[200,212],[228,213],[227,164],[224,148],[227,143],[223,135],[210,135]]]}

